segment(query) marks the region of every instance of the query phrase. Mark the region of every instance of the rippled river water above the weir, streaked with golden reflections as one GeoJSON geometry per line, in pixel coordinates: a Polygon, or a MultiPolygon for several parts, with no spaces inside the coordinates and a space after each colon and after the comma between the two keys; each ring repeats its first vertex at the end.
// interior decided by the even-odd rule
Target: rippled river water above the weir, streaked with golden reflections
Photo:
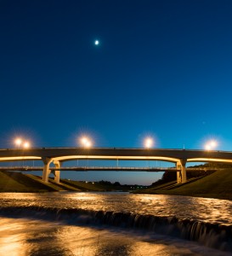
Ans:
{"type": "Polygon", "coordinates": [[[176,216],[209,223],[232,224],[232,201],[178,195],[127,193],[3,193],[1,206],[69,207],[87,210],[176,216]]]}

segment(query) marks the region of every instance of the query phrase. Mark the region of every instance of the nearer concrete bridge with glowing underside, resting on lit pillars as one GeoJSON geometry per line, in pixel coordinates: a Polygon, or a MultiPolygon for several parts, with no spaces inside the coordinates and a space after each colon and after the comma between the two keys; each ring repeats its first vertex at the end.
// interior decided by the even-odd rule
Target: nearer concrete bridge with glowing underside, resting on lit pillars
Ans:
{"type": "Polygon", "coordinates": [[[186,182],[187,162],[232,163],[232,152],[162,148],[6,148],[0,149],[0,161],[42,160],[42,180],[54,173],[59,183],[63,162],[69,160],[161,160],[176,164],[177,183],[186,182]],[[50,164],[55,168],[52,170],[50,164]]]}

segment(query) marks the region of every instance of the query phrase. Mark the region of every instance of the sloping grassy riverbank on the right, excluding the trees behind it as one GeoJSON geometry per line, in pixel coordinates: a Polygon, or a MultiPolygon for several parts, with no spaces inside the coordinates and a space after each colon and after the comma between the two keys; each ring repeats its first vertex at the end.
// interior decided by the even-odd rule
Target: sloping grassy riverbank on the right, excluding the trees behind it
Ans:
{"type": "Polygon", "coordinates": [[[197,197],[216,198],[232,201],[232,170],[214,172],[207,177],[201,177],[192,183],[178,187],[163,184],[150,189],[137,190],[136,194],[153,195],[190,195],[197,197]]]}

